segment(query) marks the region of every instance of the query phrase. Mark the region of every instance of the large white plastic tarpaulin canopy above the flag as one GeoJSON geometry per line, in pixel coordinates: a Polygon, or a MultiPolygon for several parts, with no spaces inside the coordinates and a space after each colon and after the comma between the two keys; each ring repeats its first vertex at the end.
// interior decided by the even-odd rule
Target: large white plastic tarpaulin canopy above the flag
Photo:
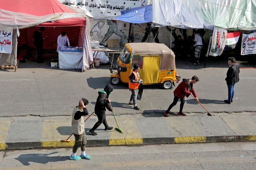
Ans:
{"type": "Polygon", "coordinates": [[[255,0],[154,0],[153,22],[178,28],[256,29],[255,0]]]}

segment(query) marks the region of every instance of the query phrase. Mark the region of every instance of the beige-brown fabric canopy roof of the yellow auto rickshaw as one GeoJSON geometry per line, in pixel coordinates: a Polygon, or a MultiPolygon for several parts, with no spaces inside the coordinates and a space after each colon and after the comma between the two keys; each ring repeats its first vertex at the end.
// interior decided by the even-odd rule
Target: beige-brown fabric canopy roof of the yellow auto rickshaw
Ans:
{"type": "MultiPolygon", "coordinates": [[[[164,44],[158,43],[127,43],[127,45],[132,49],[133,55],[136,54],[160,54],[161,64],[160,70],[175,69],[175,55],[173,51],[164,44]]],[[[129,50],[129,49],[128,49],[129,50]]]]}

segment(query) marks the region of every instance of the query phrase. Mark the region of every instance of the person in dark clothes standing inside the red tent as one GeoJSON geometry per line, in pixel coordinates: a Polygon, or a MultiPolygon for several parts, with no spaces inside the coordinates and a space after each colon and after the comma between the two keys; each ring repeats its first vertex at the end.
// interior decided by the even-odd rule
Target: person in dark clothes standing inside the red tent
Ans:
{"type": "Polygon", "coordinates": [[[42,32],[44,31],[44,27],[41,27],[39,31],[34,32],[34,44],[36,46],[36,52],[37,52],[37,63],[44,63],[44,58],[42,57],[43,53],[43,41],[44,38],[42,36],[42,32]]]}

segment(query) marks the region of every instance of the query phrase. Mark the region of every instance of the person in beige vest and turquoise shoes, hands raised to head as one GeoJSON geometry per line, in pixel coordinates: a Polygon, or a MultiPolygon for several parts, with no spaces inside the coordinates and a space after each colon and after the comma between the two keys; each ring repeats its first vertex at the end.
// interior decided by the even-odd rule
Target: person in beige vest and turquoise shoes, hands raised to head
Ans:
{"type": "Polygon", "coordinates": [[[91,159],[91,157],[85,154],[85,145],[86,145],[86,136],[84,131],[84,117],[88,115],[88,111],[86,109],[88,100],[82,98],[79,101],[79,105],[76,106],[73,110],[72,114],[72,132],[75,136],[75,145],[73,146],[72,154],[69,157],[71,160],[80,160],[91,159]],[[83,109],[83,111],[82,111],[83,109]],[[76,151],[81,147],[82,154],[80,156],[76,155],[76,151]]]}

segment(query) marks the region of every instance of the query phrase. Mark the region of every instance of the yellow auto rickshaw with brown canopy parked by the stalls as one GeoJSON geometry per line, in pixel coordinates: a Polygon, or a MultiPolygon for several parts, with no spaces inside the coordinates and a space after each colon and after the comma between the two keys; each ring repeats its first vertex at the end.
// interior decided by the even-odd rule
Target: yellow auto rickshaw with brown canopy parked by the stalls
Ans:
{"type": "Polygon", "coordinates": [[[140,65],[143,85],[162,84],[163,89],[169,89],[179,81],[173,51],[164,44],[142,42],[125,44],[117,59],[117,72],[110,75],[111,84],[128,83],[134,63],[140,65]]]}

